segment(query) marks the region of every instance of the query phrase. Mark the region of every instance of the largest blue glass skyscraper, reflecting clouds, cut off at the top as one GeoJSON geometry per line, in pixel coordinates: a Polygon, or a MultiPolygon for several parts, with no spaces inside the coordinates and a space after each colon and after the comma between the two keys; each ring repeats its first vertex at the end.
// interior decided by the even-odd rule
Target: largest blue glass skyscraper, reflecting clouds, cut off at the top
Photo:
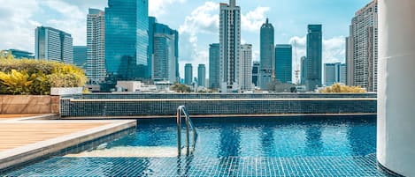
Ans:
{"type": "Polygon", "coordinates": [[[117,80],[149,76],[148,0],[109,0],[105,8],[105,68],[117,80]]]}

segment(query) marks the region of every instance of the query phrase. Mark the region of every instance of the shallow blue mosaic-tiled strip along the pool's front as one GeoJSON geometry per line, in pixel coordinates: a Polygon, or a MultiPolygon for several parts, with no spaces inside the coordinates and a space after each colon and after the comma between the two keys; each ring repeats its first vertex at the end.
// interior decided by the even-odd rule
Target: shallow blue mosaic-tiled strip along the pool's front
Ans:
{"type": "Polygon", "coordinates": [[[387,176],[374,154],[302,158],[53,158],[4,176],[387,176]]]}

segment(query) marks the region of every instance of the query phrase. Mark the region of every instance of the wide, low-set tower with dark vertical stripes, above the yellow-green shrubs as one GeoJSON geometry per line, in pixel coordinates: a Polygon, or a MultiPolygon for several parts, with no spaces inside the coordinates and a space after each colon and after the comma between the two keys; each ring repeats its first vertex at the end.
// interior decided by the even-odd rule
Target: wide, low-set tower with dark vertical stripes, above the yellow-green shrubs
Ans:
{"type": "Polygon", "coordinates": [[[73,63],[71,34],[55,28],[39,26],[35,29],[35,59],[73,63]]]}

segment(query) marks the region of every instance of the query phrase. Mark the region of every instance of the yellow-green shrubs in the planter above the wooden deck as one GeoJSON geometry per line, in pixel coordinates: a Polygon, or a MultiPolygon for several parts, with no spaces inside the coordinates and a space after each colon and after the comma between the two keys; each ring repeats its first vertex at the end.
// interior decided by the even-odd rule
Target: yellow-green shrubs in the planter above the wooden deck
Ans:
{"type": "Polygon", "coordinates": [[[50,94],[50,87],[81,87],[87,82],[80,68],[44,60],[15,60],[0,52],[0,94],[50,94]]]}

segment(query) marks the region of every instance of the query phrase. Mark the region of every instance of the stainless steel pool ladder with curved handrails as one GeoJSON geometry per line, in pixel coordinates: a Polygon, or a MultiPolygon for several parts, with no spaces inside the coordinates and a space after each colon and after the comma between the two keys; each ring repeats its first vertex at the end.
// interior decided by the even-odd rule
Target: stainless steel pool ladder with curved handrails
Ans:
{"type": "Polygon", "coordinates": [[[177,107],[177,152],[178,156],[181,156],[181,118],[182,115],[185,116],[186,120],[186,155],[189,155],[189,148],[190,144],[189,141],[189,132],[190,129],[193,132],[193,151],[195,151],[196,148],[196,140],[197,140],[197,132],[195,125],[193,124],[192,120],[190,119],[190,115],[188,114],[188,111],[185,106],[177,107]]]}

